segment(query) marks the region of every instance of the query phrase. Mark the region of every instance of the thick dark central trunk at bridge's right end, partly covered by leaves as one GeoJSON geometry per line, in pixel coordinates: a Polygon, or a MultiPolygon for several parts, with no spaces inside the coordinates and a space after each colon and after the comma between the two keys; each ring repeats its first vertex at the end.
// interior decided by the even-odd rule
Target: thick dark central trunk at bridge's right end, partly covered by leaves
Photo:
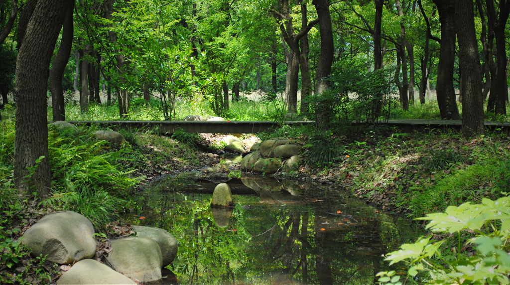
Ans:
{"type": "MultiPolygon", "coordinates": [[[[333,28],[331,28],[331,15],[329,14],[328,1],[313,0],[312,4],[317,10],[320,30],[320,56],[317,63],[317,87],[315,88],[315,94],[322,94],[329,89],[327,77],[329,73],[331,73],[335,46],[333,43],[333,28]]],[[[319,129],[326,129],[329,124],[330,116],[333,115],[331,106],[329,104],[319,103],[315,108],[315,114],[315,123],[319,129]]]]}

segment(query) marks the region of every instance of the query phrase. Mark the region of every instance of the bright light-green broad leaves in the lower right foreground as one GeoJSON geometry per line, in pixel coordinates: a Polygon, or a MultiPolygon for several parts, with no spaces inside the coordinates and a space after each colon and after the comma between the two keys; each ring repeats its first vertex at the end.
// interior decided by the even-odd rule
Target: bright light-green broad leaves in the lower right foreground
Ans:
{"type": "MultiPolygon", "coordinates": [[[[419,220],[428,220],[426,228],[439,234],[459,237],[456,250],[449,258],[444,252],[444,241],[431,237],[420,238],[412,244],[403,244],[386,257],[390,265],[403,261],[409,267],[408,278],[419,276],[428,284],[466,282],[475,284],[507,284],[510,274],[510,256],[507,241],[510,238],[510,197],[495,201],[483,199],[480,204],[464,203],[449,206],[444,213],[428,214],[419,220]],[[466,244],[461,234],[472,233],[466,244]],[[466,248],[473,246],[477,254],[469,255],[466,248]]],[[[387,279],[379,279],[381,283],[387,279]]]]}

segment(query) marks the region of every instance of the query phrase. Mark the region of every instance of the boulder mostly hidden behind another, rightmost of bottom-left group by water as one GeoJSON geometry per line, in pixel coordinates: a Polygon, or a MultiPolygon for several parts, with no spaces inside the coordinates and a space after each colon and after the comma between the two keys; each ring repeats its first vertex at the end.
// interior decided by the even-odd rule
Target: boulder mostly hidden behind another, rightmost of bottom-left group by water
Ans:
{"type": "Polygon", "coordinates": [[[163,267],[172,263],[177,255],[177,240],[170,232],[157,227],[133,226],[136,236],[139,238],[149,238],[155,240],[161,249],[163,255],[163,267]]]}

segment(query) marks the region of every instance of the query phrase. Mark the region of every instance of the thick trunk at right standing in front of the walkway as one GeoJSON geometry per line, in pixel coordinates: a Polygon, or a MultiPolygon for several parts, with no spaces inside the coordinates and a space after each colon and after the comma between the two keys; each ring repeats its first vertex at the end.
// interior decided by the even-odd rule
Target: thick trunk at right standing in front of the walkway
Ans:
{"type": "MultiPolygon", "coordinates": [[[[492,0],[489,0],[492,1],[492,0]]],[[[466,137],[483,134],[481,68],[475,35],[473,2],[455,0],[455,28],[462,73],[462,133],[466,137]]]]}

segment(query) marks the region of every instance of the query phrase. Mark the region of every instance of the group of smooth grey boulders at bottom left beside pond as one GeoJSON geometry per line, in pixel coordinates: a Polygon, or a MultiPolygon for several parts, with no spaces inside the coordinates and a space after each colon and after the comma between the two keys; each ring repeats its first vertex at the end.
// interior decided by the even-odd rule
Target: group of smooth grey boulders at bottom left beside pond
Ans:
{"type": "Polygon", "coordinates": [[[96,241],[92,223],[71,211],[43,217],[23,234],[33,255],[58,264],[74,264],[57,284],[136,284],[162,279],[161,268],[177,254],[177,241],[166,230],[134,226],[136,236],[114,240],[107,260],[91,260],[96,241]],[[93,272],[94,274],[91,274],[93,272]]]}

